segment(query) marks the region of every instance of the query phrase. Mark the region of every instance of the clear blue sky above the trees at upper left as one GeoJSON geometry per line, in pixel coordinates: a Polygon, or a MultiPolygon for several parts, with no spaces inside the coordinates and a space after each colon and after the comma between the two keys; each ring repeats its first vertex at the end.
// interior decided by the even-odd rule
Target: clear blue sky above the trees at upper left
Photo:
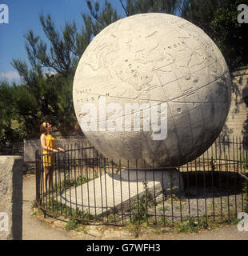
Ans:
{"type": "MultiPolygon", "coordinates": [[[[101,6],[104,0],[98,2],[101,6]]],[[[110,2],[122,14],[119,1],[110,2]]],[[[0,0],[1,4],[9,8],[9,23],[0,23],[0,81],[5,78],[9,82],[19,82],[18,72],[10,62],[13,58],[28,62],[23,34],[33,30],[35,35],[46,38],[39,21],[40,14],[50,14],[58,29],[66,21],[76,22],[80,29],[82,13],[90,14],[86,0],[0,0]]]]}

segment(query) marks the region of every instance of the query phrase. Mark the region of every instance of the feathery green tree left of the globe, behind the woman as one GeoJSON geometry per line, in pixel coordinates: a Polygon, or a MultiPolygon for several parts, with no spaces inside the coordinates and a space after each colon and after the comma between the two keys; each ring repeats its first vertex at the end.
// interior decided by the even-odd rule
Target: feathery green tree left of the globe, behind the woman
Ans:
{"type": "Polygon", "coordinates": [[[41,15],[40,22],[50,42],[50,50],[46,42],[30,30],[24,37],[31,69],[20,59],[12,60],[22,82],[22,86],[13,86],[13,107],[19,134],[25,138],[38,135],[39,124],[43,121],[52,122],[62,132],[74,127],[76,122],[72,84],[80,53],[78,31],[74,22],[66,22],[59,32],[50,15],[46,18],[41,15]],[[54,74],[45,72],[47,69],[54,74]]]}

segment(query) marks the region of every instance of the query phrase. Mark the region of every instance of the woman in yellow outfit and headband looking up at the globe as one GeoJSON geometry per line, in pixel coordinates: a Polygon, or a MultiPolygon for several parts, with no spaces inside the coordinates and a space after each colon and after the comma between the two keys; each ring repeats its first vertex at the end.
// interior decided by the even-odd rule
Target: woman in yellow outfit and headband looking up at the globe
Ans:
{"type": "Polygon", "coordinates": [[[40,127],[41,145],[42,145],[42,162],[44,166],[44,193],[46,193],[47,178],[49,180],[49,187],[53,186],[53,169],[55,164],[55,154],[58,151],[65,152],[55,144],[54,137],[50,134],[51,124],[43,122],[40,127]]]}

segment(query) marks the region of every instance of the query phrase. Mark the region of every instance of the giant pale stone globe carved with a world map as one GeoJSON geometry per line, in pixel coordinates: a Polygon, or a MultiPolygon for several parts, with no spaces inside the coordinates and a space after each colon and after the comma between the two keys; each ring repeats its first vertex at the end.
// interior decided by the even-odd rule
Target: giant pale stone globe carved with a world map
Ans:
{"type": "Polygon", "coordinates": [[[82,54],[74,110],[86,138],[114,162],[132,168],[178,166],[204,153],[220,134],[230,84],[222,53],[198,26],[170,14],[137,14],[107,26],[82,54]],[[114,110],[116,103],[122,107],[114,110]],[[126,113],[126,104],[145,104],[151,113],[153,103],[160,104],[158,116],[166,104],[166,138],[154,139],[159,129],[142,129],[144,111],[141,129],[126,129],[125,118],[137,110],[126,113]],[[85,128],[90,123],[94,129],[85,128]],[[104,129],[106,124],[122,129],[104,129]]]}

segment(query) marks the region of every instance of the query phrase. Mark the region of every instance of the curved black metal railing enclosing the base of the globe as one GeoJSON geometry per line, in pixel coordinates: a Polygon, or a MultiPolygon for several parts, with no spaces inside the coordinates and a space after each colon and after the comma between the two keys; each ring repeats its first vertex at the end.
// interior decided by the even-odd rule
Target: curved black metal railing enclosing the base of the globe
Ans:
{"type": "Polygon", "coordinates": [[[173,226],[189,218],[231,220],[248,211],[247,141],[240,138],[218,140],[183,166],[154,168],[144,162],[142,170],[129,168],[128,160],[105,158],[90,143],[65,149],[36,152],[36,203],[44,214],[173,226]]]}

